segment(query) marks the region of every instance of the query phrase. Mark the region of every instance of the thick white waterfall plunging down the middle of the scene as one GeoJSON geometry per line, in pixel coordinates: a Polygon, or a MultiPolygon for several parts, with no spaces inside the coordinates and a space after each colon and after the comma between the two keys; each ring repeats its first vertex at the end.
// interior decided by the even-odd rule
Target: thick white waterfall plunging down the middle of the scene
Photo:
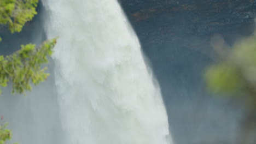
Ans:
{"type": "Polygon", "coordinates": [[[172,143],[160,90],[117,0],[44,0],[64,143],[172,143]]]}

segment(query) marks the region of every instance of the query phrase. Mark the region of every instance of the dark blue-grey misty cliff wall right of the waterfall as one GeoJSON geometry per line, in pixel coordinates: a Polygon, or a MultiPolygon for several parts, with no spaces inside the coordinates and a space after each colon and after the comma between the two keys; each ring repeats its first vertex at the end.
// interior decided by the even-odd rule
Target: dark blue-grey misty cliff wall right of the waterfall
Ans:
{"type": "Polygon", "coordinates": [[[119,0],[152,64],[176,144],[234,143],[242,106],[210,97],[203,70],[210,39],[232,45],[254,31],[256,0],[119,0]]]}

